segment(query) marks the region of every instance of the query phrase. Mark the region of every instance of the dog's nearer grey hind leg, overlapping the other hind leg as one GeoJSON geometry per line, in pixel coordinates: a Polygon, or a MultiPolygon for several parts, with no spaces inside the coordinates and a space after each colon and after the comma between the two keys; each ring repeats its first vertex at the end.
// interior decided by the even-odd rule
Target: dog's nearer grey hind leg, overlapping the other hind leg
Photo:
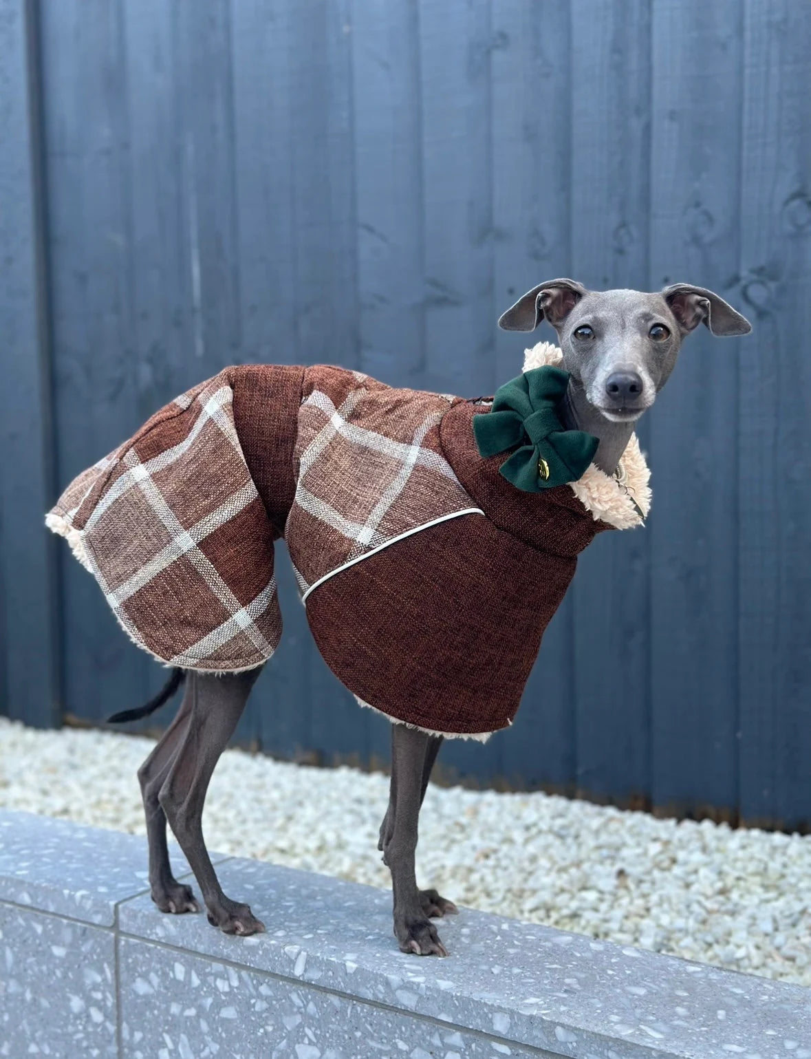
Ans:
{"type": "Polygon", "coordinates": [[[227,934],[265,930],[247,904],[222,893],[202,833],[202,810],[214,768],[233,735],[258,669],[247,672],[190,674],[191,714],[158,795],[175,838],[202,892],[209,922],[227,934]]]}

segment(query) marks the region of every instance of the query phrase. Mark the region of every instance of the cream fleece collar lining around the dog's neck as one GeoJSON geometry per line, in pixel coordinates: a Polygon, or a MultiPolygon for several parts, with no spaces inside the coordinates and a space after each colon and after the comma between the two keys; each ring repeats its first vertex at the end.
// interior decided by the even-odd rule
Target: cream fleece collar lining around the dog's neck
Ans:
{"type": "MultiPolygon", "coordinates": [[[[561,367],[563,354],[552,342],[539,342],[531,349],[524,353],[524,367],[528,372],[531,367],[543,367],[548,364],[552,367],[561,367]]],[[[594,464],[591,464],[585,473],[577,482],[570,482],[570,488],[582,503],[587,510],[591,511],[595,519],[608,522],[615,530],[633,530],[635,526],[644,524],[650,510],[651,492],[650,470],[645,462],[645,456],[639,449],[636,434],[631,434],[631,439],[623,453],[617,468],[617,477],[606,474],[594,464]],[[644,518],[639,518],[634,502],[643,513],[644,518]]]]}

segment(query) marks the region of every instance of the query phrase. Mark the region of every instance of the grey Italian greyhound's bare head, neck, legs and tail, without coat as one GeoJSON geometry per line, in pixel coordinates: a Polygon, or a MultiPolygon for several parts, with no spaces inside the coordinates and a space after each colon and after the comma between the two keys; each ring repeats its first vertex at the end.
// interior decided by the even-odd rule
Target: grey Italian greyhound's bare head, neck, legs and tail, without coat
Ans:
{"type": "MultiPolygon", "coordinates": [[[[599,445],[594,463],[613,474],[634,425],[649,409],[675,364],[683,339],[704,323],[713,335],[745,335],[749,322],[702,287],[675,284],[656,293],[587,290],[553,280],[527,291],[499,320],[506,330],[531,331],[547,320],[558,335],[569,389],[560,409],[563,427],[585,431],[599,445]]],[[[180,710],[139,770],[149,846],[149,883],[163,912],[197,912],[190,886],[172,874],[168,821],[200,885],[209,921],[227,934],[263,931],[247,904],[222,892],[202,833],[205,793],[220,754],[233,735],[259,669],[214,676],[173,670],[164,689],[140,710],[111,721],[152,713],[185,676],[180,710]]],[[[435,890],[419,890],[414,858],[417,823],[443,737],[392,724],[389,808],[378,849],[392,873],[394,933],[403,952],[447,955],[431,922],[456,912],[435,890]]]]}

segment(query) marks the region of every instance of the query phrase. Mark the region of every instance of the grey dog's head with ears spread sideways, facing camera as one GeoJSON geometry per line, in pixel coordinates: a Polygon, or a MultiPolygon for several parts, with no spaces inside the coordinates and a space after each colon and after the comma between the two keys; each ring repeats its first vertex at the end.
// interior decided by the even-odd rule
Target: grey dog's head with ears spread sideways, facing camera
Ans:
{"type": "Polygon", "coordinates": [[[612,423],[638,419],[675,364],[686,335],[700,323],[713,335],[747,335],[749,321],[704,287],[677,283],[656,293],[587,290],[574,280],[533,287],[499,320],[530,331],[548,320],[563,366],[585,398],[612,423]]]}

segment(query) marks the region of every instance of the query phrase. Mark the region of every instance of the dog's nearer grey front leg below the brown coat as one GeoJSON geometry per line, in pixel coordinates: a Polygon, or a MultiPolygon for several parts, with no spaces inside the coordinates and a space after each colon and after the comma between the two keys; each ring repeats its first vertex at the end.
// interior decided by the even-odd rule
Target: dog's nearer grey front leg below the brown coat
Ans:
{"type": "MultiPolygon", "coordinates": [[[[394,933],[400,949],[419,956],[447,956],[436,928],[428,918],[414,868],[419,807],[428,784],[426,767],[429,761],[433,765],[438,750],[438,742],[432,746],[432,739],[404,724],[392,725],[392,786],[381,841],[383,861],[392,873],[394,933]]],[[[441,901],[438,895],[436,898],[441,901]]],[[[450,905],[447,911],[455,911],[450,901],[446,903],[450,905]]]]}

